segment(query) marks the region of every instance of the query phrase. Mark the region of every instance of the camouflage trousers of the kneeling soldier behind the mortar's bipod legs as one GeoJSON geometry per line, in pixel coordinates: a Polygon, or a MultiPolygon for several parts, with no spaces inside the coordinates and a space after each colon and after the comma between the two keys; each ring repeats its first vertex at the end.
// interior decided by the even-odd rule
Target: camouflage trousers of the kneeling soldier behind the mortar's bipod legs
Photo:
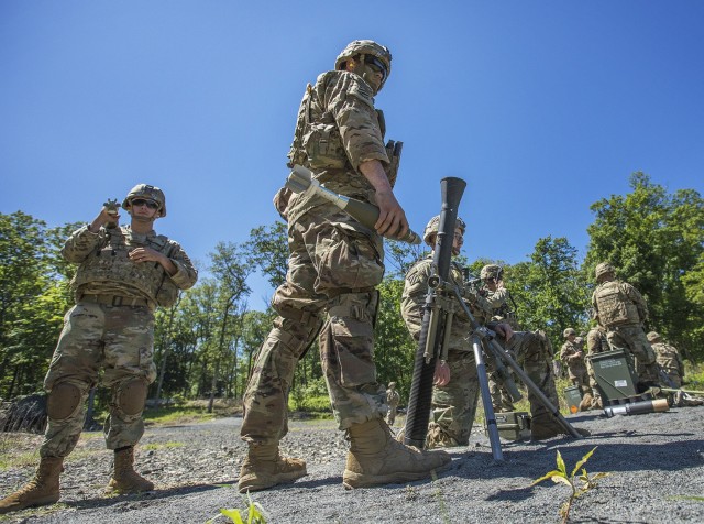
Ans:
{"type": "MultiPolygon", "coordinates": [[[[552,375],[552,347],[546,335],[538,331],[515,331],[508,342],[497,338],[498,342],[515,354],[516,362],[522,368],[528,379],[536,384],[553,406],[559,406],[558,391],[552,375]]],[[[553,426],[557,424],[550,411],[544,407],[534,392],[528,390],[531,424],[553,426]]]]}

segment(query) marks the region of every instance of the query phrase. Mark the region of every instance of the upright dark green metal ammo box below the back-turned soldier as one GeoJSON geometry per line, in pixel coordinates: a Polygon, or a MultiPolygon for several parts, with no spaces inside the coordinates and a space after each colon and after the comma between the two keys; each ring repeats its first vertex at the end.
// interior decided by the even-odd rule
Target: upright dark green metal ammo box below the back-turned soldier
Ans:
{"type": "Polygon", "coordinates": [[[624,351],[618,349],[605,351],[594,353],[590,358],[604,405],[638,395],[636,390],[638,380],[624,351]]]}

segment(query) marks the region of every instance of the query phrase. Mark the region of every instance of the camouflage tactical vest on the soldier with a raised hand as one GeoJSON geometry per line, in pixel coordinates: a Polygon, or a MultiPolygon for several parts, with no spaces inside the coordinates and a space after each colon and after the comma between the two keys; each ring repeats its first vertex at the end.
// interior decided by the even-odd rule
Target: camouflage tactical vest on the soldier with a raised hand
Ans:
{"type": "MultiPolygon", "coordinates": [[[[78,295],[80,287],[94,282],[109,281],[124,287],[128,296],[142,294],[151,301],[164,305],[157,299],[160,290],[169,277],[158,262],[134,263],[129,253],[135,248],[151,248],[169,256],[174,244],[163,234],[136,234],[128,227],[106,230],[106,240],[101,242],[80,264],[72,281],[72,288],[78,295]]],[[[76,298],[80,298],[77,296],[76,298]]]]}

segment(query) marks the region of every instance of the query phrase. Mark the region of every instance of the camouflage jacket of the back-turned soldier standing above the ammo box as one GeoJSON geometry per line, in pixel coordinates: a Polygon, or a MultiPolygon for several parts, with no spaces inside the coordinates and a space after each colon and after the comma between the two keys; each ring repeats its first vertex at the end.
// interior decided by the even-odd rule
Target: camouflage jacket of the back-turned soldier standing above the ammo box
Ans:
{"type": "Polygon", "coordinates": [[[627,282],[607,281],[596,286],[592,307],[598,324],[605,328],[642,324],[648,318],[646,301],[627,282]]]}

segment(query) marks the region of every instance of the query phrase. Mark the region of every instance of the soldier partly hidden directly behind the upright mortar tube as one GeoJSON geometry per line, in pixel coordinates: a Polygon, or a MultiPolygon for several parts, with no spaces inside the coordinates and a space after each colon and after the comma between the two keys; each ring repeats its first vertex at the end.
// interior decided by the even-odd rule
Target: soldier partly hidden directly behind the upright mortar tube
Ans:
{"type": "MultiPolygon", "coordinates": [[[[426,243],[433,249],[439,225],[440,217],[433,217],[424,233],[426,243]]],[[[464,229],[464,221],[458,218],[452,243],[453,255],[460,254],[464,229]]],[[[431,252],[410,268],[406,274],[402,296],[402,315],[416,342],[420,337],[432,259],[431,252]]],[[[476,292],[465,287],[462,275],[462,268],[453,262],[449,275],[451,282],[461,290],[476,320],[479,323],[488,320],[491,316],[488,304],[476,292]]],[[[438,364],[439,368],[447,367],[450,380],[444,383],[444,380],[437,375],[432,387],[432,415],[426,438],[426,446],[429,448],[466,446],[470,441],[480,391],[476,362],[470,339],[471,332],[472,326],[469,318],[458,307],[453,316],[447,359],[438,364]]]]}

